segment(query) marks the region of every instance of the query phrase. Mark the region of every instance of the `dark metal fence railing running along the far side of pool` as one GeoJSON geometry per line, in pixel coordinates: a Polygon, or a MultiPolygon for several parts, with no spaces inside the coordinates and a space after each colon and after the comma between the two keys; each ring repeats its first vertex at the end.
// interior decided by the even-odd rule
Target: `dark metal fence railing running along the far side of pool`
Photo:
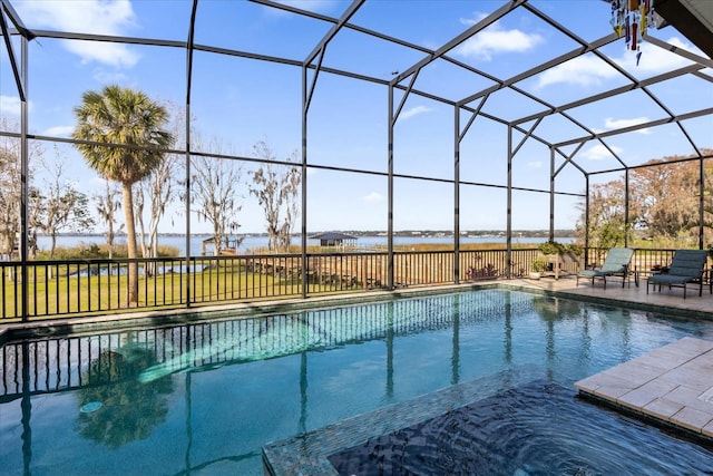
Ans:
{"type": "MultiPolygon", "coordinates": [[[[673,253],[638,249],[632,266],[666,265],[673,253]]],[[[605,254],[589,250],[588,265],[600,264],[605,254]]],[[[458,256],[456,269],[453,251],[397,251],[391,282],[387,252],[310,253],[304,272],[301,254],[31,261],[25,282],[20,262],[0,262],[0,322],[520,278],[543,255],[512,250],[509,264],[506,250],[461,250],[458,256]],[[139,269],[139,289],[137,302],[128,303],[131,262],[139,269]]],[[[555,265],[572,274],[584,260],[555,265]]]]}

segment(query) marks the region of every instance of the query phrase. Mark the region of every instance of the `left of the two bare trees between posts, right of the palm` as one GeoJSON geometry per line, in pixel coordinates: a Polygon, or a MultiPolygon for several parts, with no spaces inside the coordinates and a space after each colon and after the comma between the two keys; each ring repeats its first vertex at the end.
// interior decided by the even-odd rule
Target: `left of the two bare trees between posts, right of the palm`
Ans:
{"type": "MultiPolygon", "coordinates": [[[[222,143],[213,140],[211,150],[223,155],[222,143]]],[[[237,214],[243,208],[240,186],[242,167],[217,157],[194,156],[191,159],[192,204],[198,220],[213,225],[213,243],[217,254],[227,235],[240,227],[237,214]]],[[[237,240],[240,244],[241,240],[237,240]]]]}

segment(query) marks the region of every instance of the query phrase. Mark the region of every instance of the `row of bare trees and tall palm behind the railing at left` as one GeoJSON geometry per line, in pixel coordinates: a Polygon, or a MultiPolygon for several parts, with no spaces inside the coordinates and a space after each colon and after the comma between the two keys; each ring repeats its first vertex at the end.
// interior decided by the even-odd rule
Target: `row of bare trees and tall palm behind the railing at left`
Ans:
{"type": "MultiPolygon", "coordinates": [[[[55,159],[46,159],[38,142],[29,142],[28,183],[28,259],[37,253],[37,234],[51,239],[50,259],[60,232],[86,231],[104,223],[109,258],[117,234],[125,232],[129,259],[156,258],[158,225],[169,205],[189,203],[191,211],[211,225],[215,250],[237,231],[245,193],[255,196],[263,208],[271,250],[289,249],[297,220],[297,200],[302,183],[297,153],[277,161],[266,140],[252,148],[256,165],[221,158],[235,155],[218,139],[204,140],[192,130],[193,150],[189,177],[185,154],[170,153],[186,143],[185,117],[172,104],[153,100],[140,90],[109,85],[101,90],[85,91],[74,109],[74,146],[86,164],[105,181],[102,192],[88,196],[67,175],[67,158],[55,146],[55,159]],[[292,166],[290,164],[294,163],[292,166]],[[35,184],[32,176],[42,168],[45,179],[35,184]],[[186,187],[188,182],[188,187],[186,187]],[[96,215],[90,207],[94,203],[96,215]],[[123,221],[119,217],[124,212],[123,221]]],[[[17,130],[17,124],[2,119],[2,130],[17,130]]],[[[9,258],[18,250],[20,207],[22,203],[20,142],[0,137],[0,254],[9,258]]],[[[145,269],[150,274],[153,270],[145,269]]],[[[138,297],[138,268],[129,264],[127,300],[138,297]]]]}

